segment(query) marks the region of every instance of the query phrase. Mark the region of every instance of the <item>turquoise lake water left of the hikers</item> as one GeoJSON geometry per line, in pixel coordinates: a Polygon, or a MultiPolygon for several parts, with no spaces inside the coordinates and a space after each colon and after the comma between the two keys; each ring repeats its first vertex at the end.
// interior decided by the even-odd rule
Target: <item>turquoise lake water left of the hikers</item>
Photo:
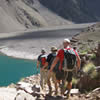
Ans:
{"type": "Polygon", "coordinates": [[[38,73],[36,61],[0,55],[0,86],[16,83],[21,78],[38,73]]]}

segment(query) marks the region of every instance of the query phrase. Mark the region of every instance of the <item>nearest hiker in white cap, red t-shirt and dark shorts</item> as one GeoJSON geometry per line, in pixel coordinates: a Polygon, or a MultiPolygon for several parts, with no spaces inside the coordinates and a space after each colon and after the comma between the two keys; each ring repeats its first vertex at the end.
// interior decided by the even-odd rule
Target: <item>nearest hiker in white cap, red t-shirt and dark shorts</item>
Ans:
{"type": "Polygon", "coordinates": [[[75,61],[77,69],[80,69],[80,57],[78,53],[73,48],[70,47],[69,39],[64,39],[63,46],[64,49],[60,49],[58,51],[58,54],[51,65],[49,73],[53,71],[57,62],[60,61],[59,72],[56,74],[56,78],[58,80],[62,80],[62,83],[64,84],[61,93],[64,95],[64,92],[66,91],[67,88],[68,89],[67,97],[69,97],[70,90],[72,88],[72,75],[73,75],[72,71],[75,66],[75,61]],[[73,56],[70,56],[72,54],[73,56]],[[67,81],[67,86],[66,86],[66,81],[67,81]]]}

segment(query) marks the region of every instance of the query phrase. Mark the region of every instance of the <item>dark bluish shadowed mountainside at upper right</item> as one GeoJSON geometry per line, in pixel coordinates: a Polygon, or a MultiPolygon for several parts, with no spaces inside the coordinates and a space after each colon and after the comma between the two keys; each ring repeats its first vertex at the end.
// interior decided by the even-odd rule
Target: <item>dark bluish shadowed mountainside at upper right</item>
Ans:
{"type": "Polygon", "coordinates": [[[100,21],[100,0],[39,0],[48,9],[75,23],[100,21]]]}

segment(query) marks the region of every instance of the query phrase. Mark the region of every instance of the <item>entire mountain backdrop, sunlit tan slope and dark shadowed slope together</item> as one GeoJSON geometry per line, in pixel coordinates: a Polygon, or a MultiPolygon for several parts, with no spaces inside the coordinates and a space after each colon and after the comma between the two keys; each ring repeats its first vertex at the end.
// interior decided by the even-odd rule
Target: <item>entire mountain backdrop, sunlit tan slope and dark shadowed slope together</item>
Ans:
{"type": "Polygon", "coordinates": [[[0,33],[100,21],[99,0],[0,0],[0,33]]]}

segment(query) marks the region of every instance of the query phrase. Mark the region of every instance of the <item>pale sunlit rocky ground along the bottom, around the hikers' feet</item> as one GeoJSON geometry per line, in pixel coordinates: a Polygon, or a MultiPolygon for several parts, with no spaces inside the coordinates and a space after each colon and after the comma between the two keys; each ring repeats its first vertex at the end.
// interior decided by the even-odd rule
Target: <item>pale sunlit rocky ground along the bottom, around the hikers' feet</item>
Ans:
{"type": "MultiPolygon", "coordinates": [[[[62,97],[60,93],[52,96],[47,94],[48,87],[44,91],[40,89],[39,75],[27,77],[16,85],[0,88],[0,100],[66,100],[66,96],[62,97]]],[[[72,93],[68,100],[100,100],[100,88],[86,94],[72,93]]]]}

